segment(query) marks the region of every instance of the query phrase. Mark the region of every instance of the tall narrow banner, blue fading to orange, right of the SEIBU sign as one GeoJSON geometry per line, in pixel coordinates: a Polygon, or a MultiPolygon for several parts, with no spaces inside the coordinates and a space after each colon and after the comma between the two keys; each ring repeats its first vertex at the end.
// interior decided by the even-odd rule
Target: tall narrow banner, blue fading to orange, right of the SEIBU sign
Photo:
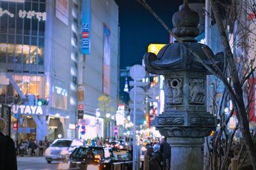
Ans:
{"type": "Polygon", "coordinates": [[[110,95],[110,29],[103,24],[103,92],[110,95]]]}

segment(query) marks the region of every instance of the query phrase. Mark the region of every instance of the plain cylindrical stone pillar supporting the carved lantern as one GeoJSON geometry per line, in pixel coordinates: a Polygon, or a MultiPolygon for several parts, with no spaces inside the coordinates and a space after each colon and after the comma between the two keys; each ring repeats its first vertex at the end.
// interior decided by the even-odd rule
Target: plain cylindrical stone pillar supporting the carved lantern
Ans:
{"type": "Polygon", "coordinates": [[[204,138],[167,138],[172,147],[172,170],[203,169],[202,145],[204,138]]]}

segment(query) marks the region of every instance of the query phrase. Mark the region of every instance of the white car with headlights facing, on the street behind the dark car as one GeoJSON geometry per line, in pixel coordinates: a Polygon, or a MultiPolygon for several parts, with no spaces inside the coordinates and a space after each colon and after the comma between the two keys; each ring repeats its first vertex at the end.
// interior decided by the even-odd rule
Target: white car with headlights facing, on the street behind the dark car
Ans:
{"type": "Polygon", "coordinates": [[[73,150],[79,146],[84,146],[82,139],[55,139],[45,150],[45,159],[48,164],[55,160],[67,160],[73,150]]]}

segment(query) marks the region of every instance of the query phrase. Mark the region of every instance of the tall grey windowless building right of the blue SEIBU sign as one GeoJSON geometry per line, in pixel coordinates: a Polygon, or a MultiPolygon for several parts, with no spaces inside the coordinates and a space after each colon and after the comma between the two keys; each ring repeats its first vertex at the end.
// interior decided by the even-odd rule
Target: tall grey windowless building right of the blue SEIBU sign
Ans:
{"type": "MultiPolygon", "coordinates": [[[[82,4],[82,13],[85,8],[86,1],[82,4]]],[[[118,6],[114,0],[91,1],[91,11],[85,11],[86,13],[91,16],[92,27],[91,34],[89,33],[91,48],[81,52],[79,56],[81,61],[78,64],[78,83],[84,96],[79,101],[84,105],[84,120],[79,124],[86,126],[86,132],[97,133],[83,134],[84,130],[80,129],[79,138],[111,137],[114,134],[115,111],[118,108],[119,98],[118,6]],[[107,114],[99,110],[100,115],[96,117],[98,98],[104,94],[111,100],[108,107],[115,108],[115,111],[107,114]],[[105,132],[107,134],[103,134],[104,127],[107,126],[109,130],[105,132]]],[[[82,17],[81,25],[84,24],[84,20],[86,22],[86,18],[82,17]]],[[[83,43],[83,40],[81,42],[83,43]]],[[[81,46],[83,48],[83,44],[81,46]]]]}

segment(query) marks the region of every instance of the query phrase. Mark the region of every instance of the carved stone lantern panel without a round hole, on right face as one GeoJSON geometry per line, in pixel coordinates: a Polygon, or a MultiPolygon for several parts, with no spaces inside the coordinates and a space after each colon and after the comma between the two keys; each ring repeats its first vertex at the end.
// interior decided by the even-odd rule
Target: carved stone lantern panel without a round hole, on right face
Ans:
{"type": "Polygon", "coordinates": [[[189,79],[189,104],[205,103],[204,78],[189,79]]]}

